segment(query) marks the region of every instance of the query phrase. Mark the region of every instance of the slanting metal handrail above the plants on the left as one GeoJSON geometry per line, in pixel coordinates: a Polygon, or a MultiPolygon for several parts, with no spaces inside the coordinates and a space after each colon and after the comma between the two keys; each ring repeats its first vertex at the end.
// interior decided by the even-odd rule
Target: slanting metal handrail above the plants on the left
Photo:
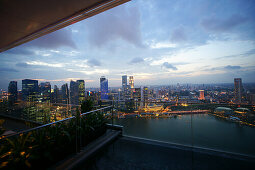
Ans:
{"type": "MultiPolygon", "coordinates": [[[[100,109],[96,109],[96,110],[92,110],[92,111],[89,111],[89,112],[85,112],[85,113],[80,114],[80,116],[88,115],[88,114],[91,114],[93,112],[98,112],[98,111],[105,110],[105,109],[108,109],[108,108],[111,108],[111,107],[112,106],[107,106],[107,107],[103,107],[103,108],[100,108],[100,109]]],[[[52,122],[52,123],[44,124],[44,125],[37,126],[37,127],[31,128],[31,129],[27,129],[27,130],[24,130],[24,131],[21,131],[21,132],[17,132],[17,133],[12,134],[12,135],[7,135],[7,136],[4,136],[4,137],[0,138],[0,141],[5,139],[5,138],[17,136],[17,135],[20,135],[20,134],[23,134],[23,133],[28,133],[28,132],[31,132],[31,131],[34,131],[34,130],[38,130],[38,129],[47,127],[47,126],[51,126],[51,125],[54,125],[54,124],[57,124],[57,123],[65,122],[67,120],[74,119],[75,117],[76,116],[68,117],[68,118],[65,118],[65,119],[62,119],[62,120],[58,120],[58,121],[55,121],[55,122],[52,122]]]]}

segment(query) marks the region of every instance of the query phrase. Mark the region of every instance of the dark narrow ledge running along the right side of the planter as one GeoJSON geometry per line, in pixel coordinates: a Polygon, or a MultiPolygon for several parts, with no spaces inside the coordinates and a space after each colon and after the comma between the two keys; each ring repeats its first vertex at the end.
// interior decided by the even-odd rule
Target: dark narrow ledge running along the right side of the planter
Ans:
{"type": "Polygon", "coordinates": [[[111,143],[113,140],[118,138],[118,136],[121,135],[121,131],[116,131],[116,130],[108,130],[105,135],[99,137],[96,139],[94,142],[91,144],[87,145],[82,149],[79,153],[74,155],[73,157],[65,160],[63,163],[60,165],[57,165],[53,167],[52,169],[76,169],[84,161],[86,161],[88,158],[92,157],[95,155],[99,150],[101,150],[104,146],[108,145],[111,143]]]}

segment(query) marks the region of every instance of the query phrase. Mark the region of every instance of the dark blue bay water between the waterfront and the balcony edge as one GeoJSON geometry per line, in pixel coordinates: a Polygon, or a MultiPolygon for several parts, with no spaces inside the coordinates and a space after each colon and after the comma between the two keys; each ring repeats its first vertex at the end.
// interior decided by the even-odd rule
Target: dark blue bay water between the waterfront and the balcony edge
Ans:
{"type": "Polygon", "coordinates": [[[193,140],[194,146],[255,156],[254,127],[210,114],[181,115],[171,118],[134,117],[115,119],[114,123],[124,126],[124,135],[184,145],[192,145],[193,140]]]}

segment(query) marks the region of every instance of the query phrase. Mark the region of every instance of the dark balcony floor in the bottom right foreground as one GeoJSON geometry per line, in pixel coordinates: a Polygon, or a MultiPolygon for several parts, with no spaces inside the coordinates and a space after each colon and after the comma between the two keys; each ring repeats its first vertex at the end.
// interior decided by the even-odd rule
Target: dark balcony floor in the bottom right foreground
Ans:
{"type": "Polygon", "coordinates": [[[120,137],[81,169],[255,169],[254,158],[120,137]],[[192,152],[193,150],[193,152],[192,152]],[[193,159],[192,159],[193,157],[193,159]]]}

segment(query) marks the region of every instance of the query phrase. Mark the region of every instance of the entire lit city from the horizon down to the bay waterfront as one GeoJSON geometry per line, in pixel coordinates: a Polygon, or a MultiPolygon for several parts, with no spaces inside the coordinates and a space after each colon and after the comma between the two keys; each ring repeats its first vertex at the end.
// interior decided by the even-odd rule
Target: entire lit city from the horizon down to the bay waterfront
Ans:
{"type": "Polygon", "coordinates": [[[254,84],[179,84],[169,86],[135,86],[134,76],[122,76],[120,88],[109,88],[105,76],[99,79],[99,89],[86,89],[84,80],[70,81],[61,87],[50,82],[10,81],[8,91],[1,91],[0,112],[35,122],[53,122],[70,117],[86,100],[94,107],[112,105],[115,116],[172,117],[183,114],[215,113],[215,116],[235,119],[255,125],[254,84]],[[241,113],[241,114],[240,114],[241,113]]]}

